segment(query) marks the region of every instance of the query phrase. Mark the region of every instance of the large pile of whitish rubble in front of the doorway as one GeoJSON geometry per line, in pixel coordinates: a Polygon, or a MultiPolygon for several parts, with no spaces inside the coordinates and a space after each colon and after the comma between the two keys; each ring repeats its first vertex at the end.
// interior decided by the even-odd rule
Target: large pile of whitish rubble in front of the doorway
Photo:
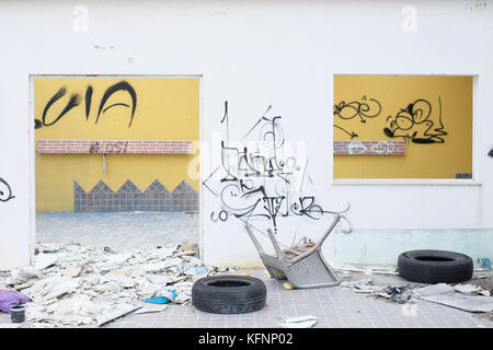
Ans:
{"type": "Polygon", "coordinates": [[[41,244],[36,253],[33,266],[0,272],[0,289],[32,300],[31,327],[102,326],[128,313],[162,311],[168,302],[191,305],[194,281],[219,272],[204,266],[190,243],[133,252],[41,244]]]}

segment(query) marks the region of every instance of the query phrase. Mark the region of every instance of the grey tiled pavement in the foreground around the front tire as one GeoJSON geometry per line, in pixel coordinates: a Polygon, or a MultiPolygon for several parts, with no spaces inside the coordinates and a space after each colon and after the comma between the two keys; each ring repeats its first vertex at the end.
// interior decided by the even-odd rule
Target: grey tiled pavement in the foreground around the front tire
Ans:
{"type": "MultiPolygon", "coordinates": [[[[493,328],[488,319],[426,301],[401,305],[341,287],[286,290],[282,281],[271,279],[263,269],[245,271],[267,287],[266,306],[261,311],[219,315],[170,304],[161,313],[127,315],[105,327],[278,328],[285,318],[310,315],[318,317],[313,328],[493,328]]],[[[405,281],[389,277],[387,282],[405,281]]]]}

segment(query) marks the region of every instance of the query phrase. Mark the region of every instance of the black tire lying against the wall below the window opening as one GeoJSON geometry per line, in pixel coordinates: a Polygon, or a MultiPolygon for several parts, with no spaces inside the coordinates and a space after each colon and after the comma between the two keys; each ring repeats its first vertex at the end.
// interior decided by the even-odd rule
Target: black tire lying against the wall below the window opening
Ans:
{"type": "Polygon", "coordinates": [[[398,260],[399,276],[422,283],[459,283],[472,278],[472,259],[446,250],[411,250],[398,260]]]}

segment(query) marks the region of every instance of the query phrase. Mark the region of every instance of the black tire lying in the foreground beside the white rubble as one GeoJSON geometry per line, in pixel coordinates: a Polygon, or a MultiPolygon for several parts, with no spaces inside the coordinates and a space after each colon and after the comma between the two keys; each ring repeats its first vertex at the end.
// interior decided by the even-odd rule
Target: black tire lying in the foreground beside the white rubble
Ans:
{"type": "Polygon", "coordinates": [[[213,276],[197,280],[192,287],[192,303],[214,314],[242,314],[265,306],[265,283],[248,276],[213,276]]]}

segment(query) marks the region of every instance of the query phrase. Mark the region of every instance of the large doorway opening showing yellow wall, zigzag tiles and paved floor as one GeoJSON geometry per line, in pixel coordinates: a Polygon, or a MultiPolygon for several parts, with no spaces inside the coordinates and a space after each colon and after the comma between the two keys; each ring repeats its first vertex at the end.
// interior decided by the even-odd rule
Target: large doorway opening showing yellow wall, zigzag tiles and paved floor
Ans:
{"type": "Polygon", "coordinates": [[[200,77],[31,79],[37,243],[199,243],[200,77]]]}

